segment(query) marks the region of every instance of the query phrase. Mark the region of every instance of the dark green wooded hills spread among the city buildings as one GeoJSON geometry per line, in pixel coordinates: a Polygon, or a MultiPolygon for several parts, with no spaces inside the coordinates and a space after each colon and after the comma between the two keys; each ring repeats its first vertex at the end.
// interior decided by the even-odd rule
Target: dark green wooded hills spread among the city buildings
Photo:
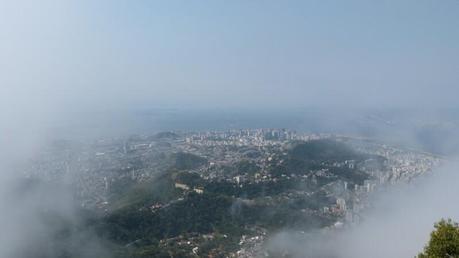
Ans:
{"type": "MultiPolygon", "coordinates": [[[[333,215],[318,212],[335,203],[320,186],[336,179],[361,183],[367,174],[354,166],[336,166],[336,162],[353,160],[358,164],[367,158],[340,142],[295,143],[268,164],[275,180],[236,183],[221,178],[204,180],[195,170],[207,164],[207,159],[174,153],[164,157],[167,169],[149,180],[122,177],[113,182],[103,214],[87,214],[78,225],[53,219],[56,236],[65,246],[71,239],[69,232],[91,232],[108,247],[104,250],[111,250],[100,257],[225,257],[239,248],[243,234],[259,228],[308,230],[333,224],[333,215]],[[316,182],[289,177],[317,170],[328,174],[318,176],[316,182]],[[177,188],[176,183],[186,187],[177,188]],[[193,244],[186,244],[190,241],[193,244]],[[193,254],[192,246],[199,246],[199,255],[193,254]]],[[[230,179],[233,175],[255,178],[261,172],[251,159],[226,169],[230,179]]],[[[54,217],[51,214],[49,218],[54,217]]],[[[75,254],[78,252],[71,251],[59,257],[77,257],[75,254]]]]}

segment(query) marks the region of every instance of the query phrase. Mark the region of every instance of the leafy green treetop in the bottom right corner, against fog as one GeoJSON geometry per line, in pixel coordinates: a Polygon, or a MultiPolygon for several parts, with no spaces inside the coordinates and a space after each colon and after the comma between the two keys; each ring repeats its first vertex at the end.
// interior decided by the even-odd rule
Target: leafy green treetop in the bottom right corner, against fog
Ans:
{"type": "Polygon", "coordinates": [[[424,252],[418,258],[459,257],[459,224],[442,219],[434,227],[424,252]]]}

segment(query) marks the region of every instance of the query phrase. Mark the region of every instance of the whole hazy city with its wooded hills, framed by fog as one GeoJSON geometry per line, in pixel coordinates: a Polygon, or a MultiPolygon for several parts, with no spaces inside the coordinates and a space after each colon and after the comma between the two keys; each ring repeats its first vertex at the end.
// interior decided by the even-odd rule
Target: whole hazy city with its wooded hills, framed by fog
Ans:
{"type": "Polygon", "coordinates": [[[370,139],[247,129],[58,141],[24,174],[71,186],[120,257],[288,257],[266,248],[271,233],[351,227],[372,192],[440,163],[370,139]],[[156,219],[163,229],[141,230],[156,219]]]}

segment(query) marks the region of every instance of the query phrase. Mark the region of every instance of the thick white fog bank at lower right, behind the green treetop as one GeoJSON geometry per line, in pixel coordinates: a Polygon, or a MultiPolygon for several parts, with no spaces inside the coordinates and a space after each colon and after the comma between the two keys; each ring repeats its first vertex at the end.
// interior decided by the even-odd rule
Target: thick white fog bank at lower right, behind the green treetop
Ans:
{"type": "Polygon", "coordinates": [[[402,258],[420,253],[433,225],[442,218],[459,221],[459,164],[451,162],[409,185],[399,184],[373,196],[360,224],[332,233],[312,233],[300,240],[281,232],[268,249],[295,257],[402,258]]]}

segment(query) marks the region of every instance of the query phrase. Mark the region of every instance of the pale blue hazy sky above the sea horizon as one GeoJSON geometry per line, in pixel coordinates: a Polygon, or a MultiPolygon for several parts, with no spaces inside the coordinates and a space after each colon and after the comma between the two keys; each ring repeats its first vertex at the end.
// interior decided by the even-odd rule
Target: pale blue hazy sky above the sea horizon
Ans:
{"type": "Polygon", "coordinates": [[[455,106],[459,1],[0,0],[0,107],[455,106]]]}

